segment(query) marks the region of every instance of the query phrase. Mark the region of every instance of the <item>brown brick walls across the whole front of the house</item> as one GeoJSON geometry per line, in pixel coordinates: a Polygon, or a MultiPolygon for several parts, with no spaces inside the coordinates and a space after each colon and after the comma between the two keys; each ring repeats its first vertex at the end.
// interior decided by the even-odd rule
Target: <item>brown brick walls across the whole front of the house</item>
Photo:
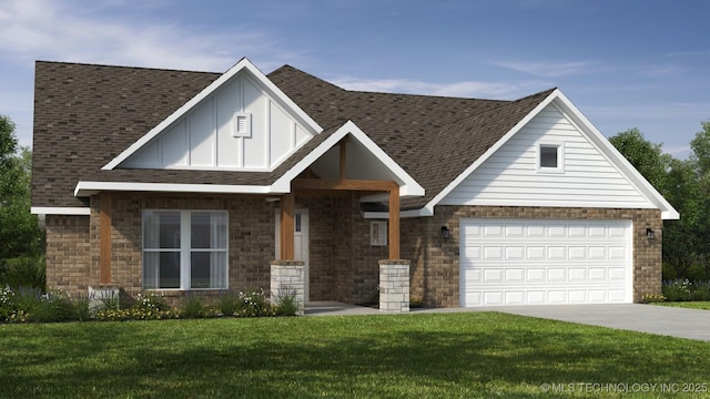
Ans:
{"type": "MultiPolygon", "coordinates": [[[[112,286],[134,297],[142,290],[143,209],[226,209],[229,213],[229,285],[232,289],[270,287],[270,260],[275,258],[277,203],[260,196],[166,196],[113,194],[112,286]]],[[[85,294],[99,285],[99,197],[91,198],[91,216],[47,218],[47,282],[50,288],[85,294]]],[[[310,300],[351,304],[377,298],[378,260],[386,246],[369,245],[369,219],[364,219],[353,193],[333,197],[296,197],[308,209],[310,300]]],[[[410,295],[428,307],[459,306],[459,219],[462,217],[630,219],[633,223],[633,300],[660,293],[661,227],[658,209],[556,207],[436,206],[433,217],[402,219],[402,257],[412,260],[410,295]],[[450,238],[443,242],[440,227],[450,238]],[[656,242],[646,228],[656,231],[656,242]]],[[[183,293],[164,290],[166,296],[183,293]]],[[[210,293],[207,293],[210,294],[210,293]]],[[[219,290],[212,293],[219,294],[219,290]]]]}

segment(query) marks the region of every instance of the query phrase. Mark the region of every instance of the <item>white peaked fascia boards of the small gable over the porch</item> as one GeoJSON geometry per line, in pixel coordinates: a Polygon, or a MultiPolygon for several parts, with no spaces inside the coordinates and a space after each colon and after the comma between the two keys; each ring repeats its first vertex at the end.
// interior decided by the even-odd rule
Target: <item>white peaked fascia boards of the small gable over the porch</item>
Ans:
{"type": "Polygon", "coordinates": [[[308,155],[304,156],[301,162],[296,163],[288,172],[284,173],[273,185],[274,192],[291,192],[291,181],[296,178],[306,167],[311,166],[323,154],[336,145],[343,137],[351,134],[355,140],[363,144],[373,155],[377,157],[395,176],[399,184],[400,196],[422,196],[424,187],[417,183],[407,172],[405,172],[397,163],[389,157],[375,142],[373,142],[353,121],[345,122],[337,131],[327,137],[321,145],[313,150],[308,155]]]}

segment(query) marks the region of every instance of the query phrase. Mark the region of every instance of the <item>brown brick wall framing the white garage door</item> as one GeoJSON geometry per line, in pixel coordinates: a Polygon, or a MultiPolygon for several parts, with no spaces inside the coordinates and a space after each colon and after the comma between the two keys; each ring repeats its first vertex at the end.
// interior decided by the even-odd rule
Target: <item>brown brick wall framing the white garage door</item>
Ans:
{"type": "Polygon", "coordinates": [[[430,307],[459,306],[459,219],[462,217],[630,219],[633,223],[633,301],[661,291],[662,221],[658,209],[605,209],[513,206],[436,206],[433,217],[403,219],[402,256],[412,259],[412,297],[430,307]],[[440,238],[442,226],[452,237],[440,238]],[[656,242],[646,228],[656,231],[656,242]],[[424,232],[419,235],[417,232],[424,232]]]}

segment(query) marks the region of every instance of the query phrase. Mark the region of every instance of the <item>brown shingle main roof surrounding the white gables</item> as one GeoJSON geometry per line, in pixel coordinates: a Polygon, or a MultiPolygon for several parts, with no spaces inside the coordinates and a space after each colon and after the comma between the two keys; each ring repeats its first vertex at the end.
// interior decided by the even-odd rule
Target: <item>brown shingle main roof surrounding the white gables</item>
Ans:
{"type": "Polygon", "coordinates": [[[352,120],[424,186],[403,201],[417,208],[550,93],[511,102],[347,91],[285,65],[267,78],[326,130],[273,172],[100,170],[220,75],[38,62],[33,206],[85,206],[73,196],[79,181],[267,185],[352,120]]]}

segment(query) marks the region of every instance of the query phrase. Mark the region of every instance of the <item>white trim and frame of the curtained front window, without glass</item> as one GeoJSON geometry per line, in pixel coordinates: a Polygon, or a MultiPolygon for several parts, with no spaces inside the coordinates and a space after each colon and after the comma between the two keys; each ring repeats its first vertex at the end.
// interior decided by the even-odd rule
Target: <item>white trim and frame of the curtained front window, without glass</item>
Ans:
{"type": "MultiPolygon", "coordinates": [[[[195,252],[202,252],[204,248],[197,248],[195,252]]],[[[212,252],[212,250],[210,250],[212,252]]],[[[155,208],[155,209],[143,209],[141,213],[141,285],[144,290],[162,290],[162,291],[183,291],[183,290],[224,290],[230,289],[230,214],[227,211],[221,209],[168,209],[168,208],[155,208]],[[143,254],[146,252],[175,252],[175,248],[149,248],[145,249],[143,247],[145,243],[145,228],[143,226],[143,215],[145,212],[180,212],[180,288],[152,288],[145,287],[145,272],[143,264],[144,256],[143,254]],[[191,287],[191,254],[194,250],[192,248],[192,232],[191,232],[191,215],[192,213],[199,212],[210,212],[210,213],[222,213],[225,215],[225,226],[226,226],[226,246],[225,246],[225,268],[226,268],[226,284],[224,288],[192,288],[191,287]]]]}

